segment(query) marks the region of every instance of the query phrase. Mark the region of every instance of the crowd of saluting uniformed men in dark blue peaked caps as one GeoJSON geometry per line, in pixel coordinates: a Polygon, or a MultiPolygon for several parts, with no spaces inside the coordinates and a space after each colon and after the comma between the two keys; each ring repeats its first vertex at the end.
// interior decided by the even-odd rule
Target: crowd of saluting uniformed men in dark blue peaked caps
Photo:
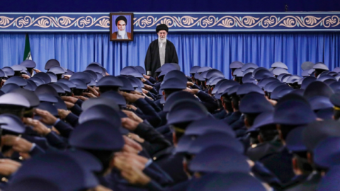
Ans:
{"type": "Polygon", "coordinates": [[[35,66],[0,69],[1,190],[340,190],[340,68],[35,66]]]}

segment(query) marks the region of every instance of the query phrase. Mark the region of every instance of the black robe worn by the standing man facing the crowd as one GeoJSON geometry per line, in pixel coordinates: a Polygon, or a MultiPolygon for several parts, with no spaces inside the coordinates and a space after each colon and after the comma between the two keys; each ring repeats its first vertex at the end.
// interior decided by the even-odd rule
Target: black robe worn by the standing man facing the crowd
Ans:
{"type": "MultiPolygon", "coordinates": [[[[179,64],[176,48],[169,40],[166,40],[164,63],[179,64]]],[[[145,56],[145,70],[151,71],[150,76],[155,78],[156,74],[154,71],[156,71],[160,66],[161,59],[159,58],[159,41],[157,39],[152,41],[149,45],[149,48],[147,49],[147,55],[145,56]]]]}

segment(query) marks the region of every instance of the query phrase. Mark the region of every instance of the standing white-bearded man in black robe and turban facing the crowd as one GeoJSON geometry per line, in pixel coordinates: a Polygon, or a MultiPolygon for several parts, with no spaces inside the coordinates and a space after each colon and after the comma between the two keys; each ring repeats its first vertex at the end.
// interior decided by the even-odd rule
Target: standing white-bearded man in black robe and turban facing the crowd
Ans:
{"type": "Polygon", "coordinates": [[[145,56],[145,70],[148,76],[156,77],[156,71],[164,63],[179,64],[179,58],[174,44],[166,40],[169,28],[165,24],[158,25],[156,32],[158,39],[150,43],[145,56]]]}

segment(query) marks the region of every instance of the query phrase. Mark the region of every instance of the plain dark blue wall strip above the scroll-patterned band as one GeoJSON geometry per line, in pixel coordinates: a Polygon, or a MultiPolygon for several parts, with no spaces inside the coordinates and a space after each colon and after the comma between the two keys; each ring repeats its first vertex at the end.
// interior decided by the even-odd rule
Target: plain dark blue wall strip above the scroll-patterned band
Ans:
{"type": "Polygon", "coordinates": [[[0,12],[340,11],[340,0],[0,0],[0,12]]]}

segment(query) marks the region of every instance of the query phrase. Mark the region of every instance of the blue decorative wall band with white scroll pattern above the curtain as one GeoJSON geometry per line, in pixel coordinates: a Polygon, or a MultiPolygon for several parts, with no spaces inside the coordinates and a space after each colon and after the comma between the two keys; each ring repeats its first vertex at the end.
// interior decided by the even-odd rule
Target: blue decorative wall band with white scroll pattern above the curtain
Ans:
{"type": "MultiPolygon", "coordinates": [[[[338,31],[340,12],[134,13],[135,32],[338,31]]],[[[109,32],[109,13],[0,13],[0,32],[109,32]]]]}

